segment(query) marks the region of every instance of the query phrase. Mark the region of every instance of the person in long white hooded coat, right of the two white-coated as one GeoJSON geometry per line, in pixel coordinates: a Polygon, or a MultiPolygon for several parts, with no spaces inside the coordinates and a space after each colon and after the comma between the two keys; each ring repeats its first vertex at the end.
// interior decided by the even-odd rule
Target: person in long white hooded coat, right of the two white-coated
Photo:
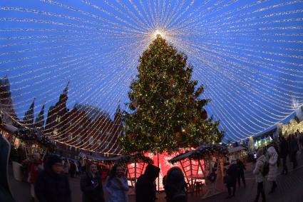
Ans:
{"type": "Polygon", "coordinates": [[[278,167],[277,167],[278,154],[273,146],[267,149],[267,153],[269,155],[269,161],[268,161],[269,173],[268,173],[267,181],[272,182],[272,189],[269,191],[270,194],[273,193],[274,190],[277,188],[276,178],[278,172],[278,167]]]}

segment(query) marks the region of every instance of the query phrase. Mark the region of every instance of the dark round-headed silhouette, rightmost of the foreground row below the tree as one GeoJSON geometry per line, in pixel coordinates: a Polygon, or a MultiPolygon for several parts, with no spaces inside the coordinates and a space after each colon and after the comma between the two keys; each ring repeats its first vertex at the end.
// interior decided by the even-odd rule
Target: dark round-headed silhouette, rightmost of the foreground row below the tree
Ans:
{"type": "Polygon", "coordinates": [[[178,167],[168,170],[165,179],[165,193],[167,202],[186,202],[186,183],[183,172],[178,167]]]}

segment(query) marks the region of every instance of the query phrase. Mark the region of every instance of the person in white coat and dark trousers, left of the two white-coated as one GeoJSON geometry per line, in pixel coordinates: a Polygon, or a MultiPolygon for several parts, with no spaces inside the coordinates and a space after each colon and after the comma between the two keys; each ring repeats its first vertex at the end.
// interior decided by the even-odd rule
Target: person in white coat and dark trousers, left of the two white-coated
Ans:
{"type": "Polygon", "coordinates": [[[262,201],[265,202],[265,191],[264,191],[264,186],[263,186],[263,181],[264,181],[264,176],[266,175],[265,171],[265,163],[267,162],[266,157],[263,155],[263,149],[259,148],[257,150],[257,163],[255,166],[254,171],[252,173],[256,177],[256,182],[257,182],[257,196],[255,198],[255,202],[259,201],[259,196],[261,193],[262,196],[262,201]]]}

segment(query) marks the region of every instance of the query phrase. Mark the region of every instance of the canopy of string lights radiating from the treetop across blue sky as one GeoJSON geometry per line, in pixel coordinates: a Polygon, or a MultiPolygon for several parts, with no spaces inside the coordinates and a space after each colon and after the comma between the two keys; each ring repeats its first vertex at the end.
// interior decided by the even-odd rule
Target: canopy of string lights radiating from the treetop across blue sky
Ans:
{"type": "Polygon", "coordinates": [[[223,141],[257,136],[303,105],[302,13],[280,0],[1,1],[1,109],[56,142],[119,153],[138,59],[160,35],[188,56],[223,141]]]}

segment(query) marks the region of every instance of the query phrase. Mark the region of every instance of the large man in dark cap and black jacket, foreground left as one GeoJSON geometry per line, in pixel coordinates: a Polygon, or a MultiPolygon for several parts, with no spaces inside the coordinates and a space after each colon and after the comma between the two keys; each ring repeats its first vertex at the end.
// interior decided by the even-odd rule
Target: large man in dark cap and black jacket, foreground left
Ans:
{"type": "Polygon", "coordinates": [[[40,202],[71,202],[71,188],[68,177],[63,174],[61,158],[48,156],[35,183],[35,193],[40,202]]]}

